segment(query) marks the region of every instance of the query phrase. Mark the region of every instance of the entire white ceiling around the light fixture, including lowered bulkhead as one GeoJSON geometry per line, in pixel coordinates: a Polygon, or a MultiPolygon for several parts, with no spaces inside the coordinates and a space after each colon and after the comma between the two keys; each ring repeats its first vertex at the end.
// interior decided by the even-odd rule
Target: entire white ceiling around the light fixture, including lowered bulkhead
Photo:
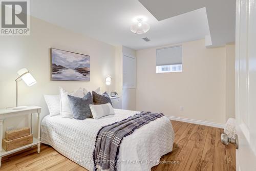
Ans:
{"type": "Polygon", "coordinates": [[[33,0],[30,1],[30,13],[76,33],[135,50],[209,35],[212,46],[233,42],[235,14],[233,9],[229,10],[233,8],[233,1],[210,1],[198,0],[187,5],[188,0],[140,0],[141,3],[138,0],[33,0]],[[205,1],[209,2],[205,4],[205,1]],[[130,31],[136,17],[143,17],[150,24],[147,33],[138,35],[130,31]],[[146,42],[143,37],[151,41],[146,42]]]}

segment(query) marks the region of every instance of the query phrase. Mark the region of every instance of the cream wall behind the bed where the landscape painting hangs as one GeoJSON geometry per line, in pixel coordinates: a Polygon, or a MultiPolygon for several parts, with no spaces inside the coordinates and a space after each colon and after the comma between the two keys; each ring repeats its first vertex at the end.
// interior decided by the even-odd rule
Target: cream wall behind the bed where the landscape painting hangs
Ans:
{"type": "MultiPolygon", "coordinates": [[[[73,33],[67,29],[31,17],[30,36],[1,36],[0,38],[0,108],[15,105],[17,71],[27,68],[37,80],[32,87],[19,82],[19,105],[40,105],[42,116],[48,109],[44,94],[58,94],[59,86],[68,91],[79,87],[106,90],[105,76],[112,76],[110,90],[115,90],[115,47],[101,41],[73,33]],[[51,81],[50,48],[57,48],[91,56],[91,81],[51,81]]],[[[34,123],[36,119],[34,118],[34,123]]],[[[28,126],[28,118],[7,119],[6,126],[28,126]]],[[[36,127],[34,128],[36,130],[36,127]]],[[[4,130],[5,131],[5,130],[4,130]]]]}

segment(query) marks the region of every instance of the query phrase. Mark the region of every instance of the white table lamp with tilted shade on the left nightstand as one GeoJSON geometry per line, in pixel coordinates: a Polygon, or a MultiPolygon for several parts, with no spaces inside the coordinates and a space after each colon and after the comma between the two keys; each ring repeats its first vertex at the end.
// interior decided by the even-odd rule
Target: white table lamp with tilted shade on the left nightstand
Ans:
{"type": "Polygon", "coordinates": [[[18,75],[19,77],[15,79],[16,81],[16,107],[14,107],[14,110],[19,110],[19,109],[25,109],[27,106],[18,106],[18,81],[23,80],[29,87],[33,86],[36,83],[35,78],[30,74],[30,72],[26,69],[20,69],[18,70],[18,75]]]}

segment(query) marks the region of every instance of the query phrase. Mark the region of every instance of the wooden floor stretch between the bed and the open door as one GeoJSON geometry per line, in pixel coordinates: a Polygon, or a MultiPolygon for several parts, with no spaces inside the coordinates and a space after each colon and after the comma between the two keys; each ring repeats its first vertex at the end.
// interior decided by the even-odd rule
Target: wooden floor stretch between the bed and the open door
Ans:
{"type": "Polygon", "coordinates": [[[179,161],[180,164],[159,164],[152,171],[160,170],[236,170],[236,148],[223,145],[223,129],[193,123],[172,121],[175,140],[173,152],[161,161],[179,161]]]}

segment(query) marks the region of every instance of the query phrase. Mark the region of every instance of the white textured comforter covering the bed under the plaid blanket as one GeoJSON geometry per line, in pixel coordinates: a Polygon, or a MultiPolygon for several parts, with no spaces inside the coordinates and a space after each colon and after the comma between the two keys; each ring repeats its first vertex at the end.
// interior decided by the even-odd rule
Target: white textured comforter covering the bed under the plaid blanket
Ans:
{"type": "MultiPolygon", "coordinates": [[[[93,170],[93,150],[99,129],[129,116],[136,111],[115,109],[116,115],[100,119],[76,120],[46,116],[41,123],[41,142],[51,145],[59,153],[93,170]]],[[[173,126],[169,119],[158,118],[123,139],[118,155],[118,170],[150,170],[161,156],[171,152],[174,143],[173,126]]]]}

